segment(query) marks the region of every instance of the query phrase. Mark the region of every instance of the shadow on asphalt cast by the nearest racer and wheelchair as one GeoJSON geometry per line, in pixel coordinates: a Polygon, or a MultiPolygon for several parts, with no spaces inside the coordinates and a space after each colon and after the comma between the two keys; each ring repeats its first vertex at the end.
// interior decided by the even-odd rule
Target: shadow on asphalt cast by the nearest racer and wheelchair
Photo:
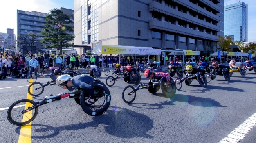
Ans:
{"type": "MultiPolygon", "coordinates": [[[[100,116],[92,118],[93,121],[88,123],[78,123],[66,126],[48,126],[43,124],[32,124],[32,135],[31,138],[45,139],[54,137],[65,133],[65,130],[81,130],[81,134],[85,137],[90,136],[90,133],[86,131],[86,128],[93,127],[95,130],[99,130],[97,126],[100,124],[104,126],[105,131],[120,138],[133,138],[133,137],[143,137],[143,138],[154,138],[153,136],[147,134],[149,130],[153,129],[153,120],[150,117],[136,113],[125,108],[120,107],[109,107],[106,113],[100,116]]],[[[54,122],[54,121],[49,121],[54,122]]],[[[26,133],[20,132],[20,128],[16,128],[17,134],[26,133]]],[[[100,131],[96,131],[99,132],[100,131]]]]}

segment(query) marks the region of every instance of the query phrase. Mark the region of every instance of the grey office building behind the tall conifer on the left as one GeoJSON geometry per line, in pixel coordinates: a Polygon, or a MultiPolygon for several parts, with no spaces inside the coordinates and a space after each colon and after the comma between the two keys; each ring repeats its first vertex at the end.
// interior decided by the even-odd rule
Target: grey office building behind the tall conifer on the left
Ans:
{"type": "MultiPolygon", "coordinates": [[[[61,8],[65,14],[70,15],[70,19],[74,19],[74,10],[61,8]]],[[[37,11],[22,11],[17,9],[17,37],[19,35],[28,35],[28,33],[36,33],[38,38],[36,38],[34,43],[34,48],[32,53],[36,52],[44,52],[47,48],[44,47],[45,44],[40,43],[40,40],[44,35],[40,34],[40,31],[45,27],[45,17],[49,13],[41,13],[37,11]]],[[[73,24],[72,24],[73,25],[73,24]]],[[[69,34],[73,35],[73,32],[69,34]]],[[[19,45],[18,45],[19,46],[19,45]]],[[[24,47],[24,46],[23,46],[24,47]]],[[[30,50],[30,47],[27,47],[30,50]]],[[[20,49],[23,54],[27,53],[26,47],[25,49],[20,49]]]]}

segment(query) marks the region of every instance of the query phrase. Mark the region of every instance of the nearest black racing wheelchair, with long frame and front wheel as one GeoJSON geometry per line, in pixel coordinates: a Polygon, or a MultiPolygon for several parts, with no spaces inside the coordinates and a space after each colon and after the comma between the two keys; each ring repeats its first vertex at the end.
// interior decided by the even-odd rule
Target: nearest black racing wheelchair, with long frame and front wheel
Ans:
{"type": "Polygon", "coordinates": [[[92,86],[95,97],[95,102],[92,105],[88,104],[90,95],[88,95],[85,90],[76,88],[70,93],[60,93],[57,95],[46,96],[40,102],[34,102],[33,100],[29,99],[18,100],[9,107],[7,111],[7,119],[11,124],[17,126],[29,124],[36,118],[39,106],[65,98],[74,98],[75,100],[79,100],[79,104],[81,103],[83,111],[88,115],[102,115],[110,105],[110,91],[103,82],[97,79],[89,83],[89,85],[92,86]]]}

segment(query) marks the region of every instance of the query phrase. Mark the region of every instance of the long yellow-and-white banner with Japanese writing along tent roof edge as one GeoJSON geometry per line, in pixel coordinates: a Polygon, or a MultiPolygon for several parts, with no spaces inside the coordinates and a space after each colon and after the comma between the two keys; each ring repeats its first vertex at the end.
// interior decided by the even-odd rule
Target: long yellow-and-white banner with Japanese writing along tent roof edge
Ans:
{"type": "Polygon", "coordinates": [[[112,46],[102,46],[102,54],[142,54],[142,55],[160,55],[161,49],[153,48],[135,48],[135,47],[112,47],[112,46]]]}

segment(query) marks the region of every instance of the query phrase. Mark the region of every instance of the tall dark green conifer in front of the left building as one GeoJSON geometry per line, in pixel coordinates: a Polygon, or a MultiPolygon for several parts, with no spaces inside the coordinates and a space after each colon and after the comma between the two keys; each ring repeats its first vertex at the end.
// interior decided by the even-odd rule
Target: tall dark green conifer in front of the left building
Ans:
{"type": "Polygon", "coordinates": [[[74,26],[71,25],[70,15],[64,14],[61,9],[52,9],[45,18],[45,28],[40,33],[45,35],[41,40],[47,48],[57,48],[62,53],[62,48],[73,46],[67,43],[74,39],[74,35],[68,32],[74,32],[74,26]]]}

